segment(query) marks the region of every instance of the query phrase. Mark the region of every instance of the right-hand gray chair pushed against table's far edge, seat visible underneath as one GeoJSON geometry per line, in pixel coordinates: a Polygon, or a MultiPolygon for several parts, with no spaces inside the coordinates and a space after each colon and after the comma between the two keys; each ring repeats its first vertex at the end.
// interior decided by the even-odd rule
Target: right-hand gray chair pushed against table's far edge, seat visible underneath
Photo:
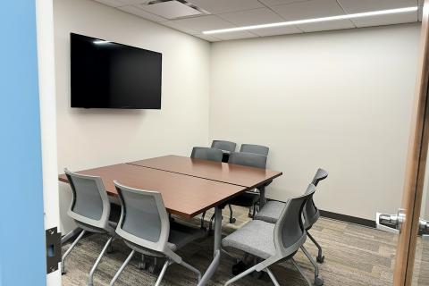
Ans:
{"type": "MultiPolygon", "coordinates": [[[[229,164],[241,164],[248,167],[261,168],[265,169],[266,166],[266,156],[258,155],[254,153],[237,153],[233,152],[230,154],[230,159],[228,160],[229,164]]],[[[230,208],[230,223],[235,223],[235,218],[232,215],[233,206],[247,206],[249,208],[253,207],[253,215],[256,213],[256,204],[259,201],[259,192],[257,189],[249,190],[240,196],[232,198],[228,201],[228,206],[230,208]]],[[[250,214],[250,212],[249,212],[250,214]]]]}

